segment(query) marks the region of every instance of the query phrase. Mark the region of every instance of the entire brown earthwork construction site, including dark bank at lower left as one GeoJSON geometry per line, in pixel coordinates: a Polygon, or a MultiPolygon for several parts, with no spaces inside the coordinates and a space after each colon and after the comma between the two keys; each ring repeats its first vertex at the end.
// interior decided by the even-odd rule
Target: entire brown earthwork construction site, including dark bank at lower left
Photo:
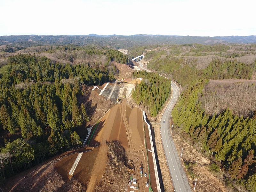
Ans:
{"type": "Polygon", "coordinates": [[[16,184],[6,186],[6,191],[72,191],[72,188],[88,192],[159,191],[145,113],[129,105],[132,89],[141,81],[142,78],[120,78],[116,83],[88,87],[90,97],[85,98],[101,102],[99,108],[95,107],[97,103],[90,103],[95,113],[102,112],[104,104],[112,103],[113,107],[104,108],[102,117],[98,116],[87,128],[88,135],[82,138],[83,148],[65,152],[13,177],[12,183],[16,184]],[[113,146],[118,150],[113,150],[113,146]]]}

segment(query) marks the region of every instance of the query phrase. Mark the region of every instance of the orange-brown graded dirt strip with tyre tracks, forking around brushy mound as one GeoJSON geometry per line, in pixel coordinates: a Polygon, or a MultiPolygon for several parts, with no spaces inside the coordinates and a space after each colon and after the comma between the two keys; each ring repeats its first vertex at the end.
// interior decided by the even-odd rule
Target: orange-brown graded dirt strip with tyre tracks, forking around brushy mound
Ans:
{"type": "MultiPolygon", "coordinates": [[[[107,164],[106,141],[119,140],[126,150],[128,159],[131,159],[135,167],[135,177],[140,191],[146,192],[148,177],[140,177],[140,163],[143,165],[143,174],[148,173],[148,162],[144,140],[144,125],[142,111],[138,108],[130,108],[126,100],[111,108],[101,119],[98,132],[92,143],[100,142],[100,150],[93,166],[91,178],[86,191],[93,191],[103,175],[107,164]]],[[[124,178],[127,182],[129,178],[124,178]]]]}

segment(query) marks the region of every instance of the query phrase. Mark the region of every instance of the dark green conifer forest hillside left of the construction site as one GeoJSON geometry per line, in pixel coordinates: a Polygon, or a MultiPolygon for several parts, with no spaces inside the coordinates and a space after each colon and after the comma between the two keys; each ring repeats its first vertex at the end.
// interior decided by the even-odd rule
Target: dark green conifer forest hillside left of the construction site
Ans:
{"type": "Polygon", "coordinates": [[[114,80],[116,66],[127,56],[117,50],[87,50],[105,55],[95,65],[70,65],[35,54],[9,56],[0,68],[1,183],[5,178],[81,144],[76,128],[89,121],[83,97],[86,85],[114,80]],[[114,73],[113,73],[114,72],[114,73]]]}

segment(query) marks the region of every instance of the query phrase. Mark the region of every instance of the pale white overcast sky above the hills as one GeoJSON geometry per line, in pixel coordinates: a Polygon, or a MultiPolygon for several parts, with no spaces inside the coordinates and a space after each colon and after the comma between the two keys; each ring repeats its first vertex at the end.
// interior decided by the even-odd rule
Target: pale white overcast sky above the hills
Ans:
{"type": "Polygon", "coordinates": [[[0,0],[0,36],[249,36],[254,7],[254,0],[0,0]]]}

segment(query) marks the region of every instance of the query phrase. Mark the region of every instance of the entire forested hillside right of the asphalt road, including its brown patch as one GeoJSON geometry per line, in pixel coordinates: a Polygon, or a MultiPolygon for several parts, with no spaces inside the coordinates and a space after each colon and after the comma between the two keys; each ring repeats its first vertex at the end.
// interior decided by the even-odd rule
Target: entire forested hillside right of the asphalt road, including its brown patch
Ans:
{"type": "Polygon", "coordinates": [[[256,77],[255,44],[152,48],[135,47],[129,53],[139,55],[144,49],[147,68],[166,74],[183,86],[172,111],[177,130],[222,168],[223,182],[229,185],[239,181],[240,187],[253,191],[256,185],[256,86],[252,80],[256,77]]]}

